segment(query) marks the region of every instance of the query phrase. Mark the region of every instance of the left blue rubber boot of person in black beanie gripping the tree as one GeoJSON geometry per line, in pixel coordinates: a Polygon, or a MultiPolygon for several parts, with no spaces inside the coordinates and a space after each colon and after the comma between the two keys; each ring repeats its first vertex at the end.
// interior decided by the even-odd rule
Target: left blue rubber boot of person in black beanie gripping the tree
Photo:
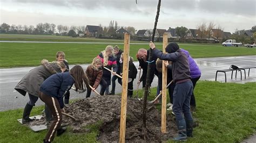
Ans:
{"type": "Polygon", "coordinates": [[[172,140],[186,141],[187,140],[186,121],[184,119],[177,120],[177,127],[178,127],[178,135],[174,137],[172,140]]]}

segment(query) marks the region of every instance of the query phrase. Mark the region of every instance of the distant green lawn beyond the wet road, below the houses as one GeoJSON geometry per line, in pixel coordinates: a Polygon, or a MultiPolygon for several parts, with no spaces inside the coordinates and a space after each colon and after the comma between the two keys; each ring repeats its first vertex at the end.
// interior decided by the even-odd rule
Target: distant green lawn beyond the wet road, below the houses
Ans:
{"type": "MultiPolygon", "coordinates": [[[[42,59],[55,60],[57,51],[63,51],[70,65],[91,63],[107,45],[116,44],[70,44],[70,43],[10,43],[0,42],[0,68],[38,66],[42,59]]],[[[123,44],[118,44],[123,49],[123,44]]],[[[161,48],[162,45],[156,45],[161,48]]],[[[255,48],[223,47],[215,45],[180,44],[190,52],[193,58],[218,56],[256,55],[255,48]]],[[[130,44],[130,56],[137,61],[135,55],[139,48],[149,48],[149,44],[130,44]]]]}

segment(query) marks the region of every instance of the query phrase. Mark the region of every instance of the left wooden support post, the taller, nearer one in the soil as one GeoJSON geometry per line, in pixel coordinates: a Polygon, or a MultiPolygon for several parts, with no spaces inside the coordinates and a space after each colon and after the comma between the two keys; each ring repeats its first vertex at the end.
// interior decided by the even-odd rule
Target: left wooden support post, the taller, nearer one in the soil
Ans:
{"type": "Polygon", "coordinates": [[[120,113],[120,133],[119,142],[125,142],[125,125],[126,125],[126,105],[128,89],[128,72],[129,72],[129,51],[130,51],[130,34],[124,34],[124,56],[123,56],[123,79],[122,79],[122,101],[120,113]]]}

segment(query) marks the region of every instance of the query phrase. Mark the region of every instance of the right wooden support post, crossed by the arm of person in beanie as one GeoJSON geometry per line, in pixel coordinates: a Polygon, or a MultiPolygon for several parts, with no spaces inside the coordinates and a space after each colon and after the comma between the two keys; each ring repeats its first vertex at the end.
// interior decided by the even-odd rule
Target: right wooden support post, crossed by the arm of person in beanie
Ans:
{"type": "MultiPolygon", "coordinates": [[[[163,35],[163,53],[165,52],[165,47],[167,46],[168,37],[167,33],[163,35]]],[[[166,84],[167,84],[167,68],[163,61],[163,77],[162,77],[162,107],[161,107],[161,132],[166,133],[166,84]]]]}

